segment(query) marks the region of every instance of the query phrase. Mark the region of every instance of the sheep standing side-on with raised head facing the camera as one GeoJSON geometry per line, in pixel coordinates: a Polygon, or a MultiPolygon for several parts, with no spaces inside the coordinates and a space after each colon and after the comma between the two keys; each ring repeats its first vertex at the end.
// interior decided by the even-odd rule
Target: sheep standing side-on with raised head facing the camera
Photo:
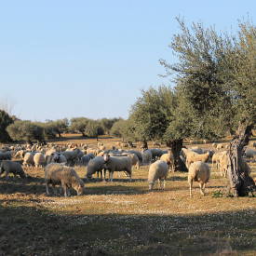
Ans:
{"type": "Polygon", "coordinates": [[[105,179],[105,170],[109,170],[110,181],[113,182],[113,173],[114,171],[126,171],[129,174],[129,182],[132,181],[132,160],[128,156],[118,157],[110,156],[108,154],[103,155],[104,160],[104,179],[105,179]]]}

